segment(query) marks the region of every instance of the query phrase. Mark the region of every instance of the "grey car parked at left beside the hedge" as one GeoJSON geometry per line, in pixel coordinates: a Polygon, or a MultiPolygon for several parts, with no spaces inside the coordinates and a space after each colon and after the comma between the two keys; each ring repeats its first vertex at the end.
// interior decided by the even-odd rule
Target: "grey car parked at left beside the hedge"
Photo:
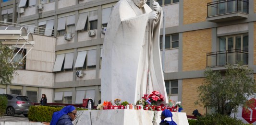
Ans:
{"type": "Polygon", "coordinates": [[[6,114],[14,116],[14,114],[23,114],[27,117],[28,109],[33,105],[33,102],[27,96],[15,94],[0,94],[5,95],[8,99],[6,114]]]}

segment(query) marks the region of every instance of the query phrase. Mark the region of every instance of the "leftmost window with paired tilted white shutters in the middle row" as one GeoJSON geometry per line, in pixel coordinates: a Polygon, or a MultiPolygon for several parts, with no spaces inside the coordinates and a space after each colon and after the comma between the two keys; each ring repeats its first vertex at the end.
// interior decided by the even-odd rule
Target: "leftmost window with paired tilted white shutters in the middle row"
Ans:
{"type": "Polygon", "coordinates": [[[73,53],[60,54],[56,56],[53,72],[72,71],[73,70],[73,53]]]}

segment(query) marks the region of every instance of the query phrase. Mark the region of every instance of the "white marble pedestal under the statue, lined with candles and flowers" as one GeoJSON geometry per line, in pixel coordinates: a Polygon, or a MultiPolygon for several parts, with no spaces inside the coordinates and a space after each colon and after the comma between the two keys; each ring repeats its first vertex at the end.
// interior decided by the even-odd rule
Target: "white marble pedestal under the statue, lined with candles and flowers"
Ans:
{"type": "MultiPolygon", "coordinates": [[[[161,111],[129,109],[77,111],[73,125],[159,125],[159,115],[161,111]]],[[[186,113],[172,112],[172,115],[177,125],[189,125],[186,113]]]]}

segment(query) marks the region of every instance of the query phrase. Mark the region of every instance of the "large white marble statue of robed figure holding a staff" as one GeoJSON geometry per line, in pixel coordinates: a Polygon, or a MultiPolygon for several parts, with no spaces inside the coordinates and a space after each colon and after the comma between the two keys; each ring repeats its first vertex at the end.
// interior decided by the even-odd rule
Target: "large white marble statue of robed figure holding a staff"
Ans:
{"type": "Polygon", "coordinates": [[[103,44],[101,100],[135,103],[159,91],[168,103],[159,50],[162,9],[153,1],[120,0],[113,8],[103,44]]]}

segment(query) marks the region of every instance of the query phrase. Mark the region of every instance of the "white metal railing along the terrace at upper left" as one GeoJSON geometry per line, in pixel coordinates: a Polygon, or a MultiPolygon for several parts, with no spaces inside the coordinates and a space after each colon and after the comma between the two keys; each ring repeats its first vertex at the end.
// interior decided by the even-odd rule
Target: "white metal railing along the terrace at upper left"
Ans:
{"type": "Polygon", "coordinates": [[[8,27],[8,26],[25,27],[26,30],[27,30],[27,33],[31,33],[31,34],[54,36],[54,30],[53,29],[47,29],[47,28],[38,27],[38,26],[0,21],[0,27],[8,27]]]}

